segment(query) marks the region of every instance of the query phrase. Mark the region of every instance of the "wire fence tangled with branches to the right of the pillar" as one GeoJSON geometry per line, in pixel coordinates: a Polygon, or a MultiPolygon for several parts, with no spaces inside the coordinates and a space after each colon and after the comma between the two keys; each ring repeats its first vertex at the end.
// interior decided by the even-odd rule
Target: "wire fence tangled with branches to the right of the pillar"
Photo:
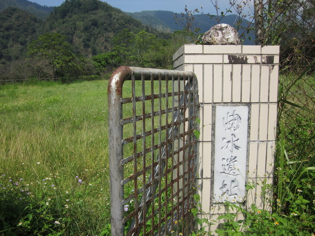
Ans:
{"type": "Polygon", "coordinates": [[[285,138],[294,147],[302,138],[300,129],[314,134],[315,1],[258,0],[258,3],[255,5],[257,44],[281,46],[278,122],[289,128],[285,138]]]}

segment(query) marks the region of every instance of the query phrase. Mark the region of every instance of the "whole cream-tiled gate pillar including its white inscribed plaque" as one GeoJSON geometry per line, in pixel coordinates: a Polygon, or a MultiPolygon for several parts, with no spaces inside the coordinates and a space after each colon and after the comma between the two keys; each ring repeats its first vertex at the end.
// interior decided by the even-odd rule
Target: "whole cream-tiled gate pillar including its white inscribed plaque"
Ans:
{"type": "MultiPolygon", "coordinates": [[[[225,212],[214,204],[222,196],[243,198],[245,183],[272,183],[278,63],[279,46],[184,45],[173,56],[175,70],[198,78],[198,185],[203,211],[212,213],[206,217],[225,212]]],[[[255,184],[244,207],[262,207],[260,188],[255,184]]]]}

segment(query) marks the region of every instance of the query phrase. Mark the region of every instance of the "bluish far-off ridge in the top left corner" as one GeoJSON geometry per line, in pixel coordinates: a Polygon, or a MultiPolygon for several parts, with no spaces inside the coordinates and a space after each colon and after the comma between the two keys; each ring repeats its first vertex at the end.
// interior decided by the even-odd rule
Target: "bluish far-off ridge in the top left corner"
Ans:
{"type": "Polygon", "coordinates": [[[54,10],[53,6],[42,6],[28,0],[0,0],[0,11],[10,6],[32,13],[42,20],[46,19],[50,12],[54,10]]]}

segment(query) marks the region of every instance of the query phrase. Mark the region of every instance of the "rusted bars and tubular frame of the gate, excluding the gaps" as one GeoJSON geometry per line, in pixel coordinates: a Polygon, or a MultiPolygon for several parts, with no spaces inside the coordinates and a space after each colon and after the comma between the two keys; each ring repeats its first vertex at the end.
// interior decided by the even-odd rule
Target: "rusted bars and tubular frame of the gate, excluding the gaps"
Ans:
{"type": "Polygon", "coordinates": [[[192,228],[189,227],[191,222],[185,222],[187,229],[180,229],[179,224],[176,224],[180,219],[189,219],[189,209],[193,206],[192,193],[193,193],[193,183],[195,178],[195,166],[196,166],[196,139],[193,136],[193,131],[196,127],[196,117],[198,110],[198,86],[195,75],[192,72],[183,71],[172,71],[172,70],[158,70],[158,69],[147,69],[147,68],[136,68],[136,67],[126,67],[122,66],[118,68],[110,78],[108,85],[108,104],[109,104],[109,154],[110,154],[110,179],[111,179],[111,227],[112,235],[123,236],[125,235],[126,221],[132,219],[127,235],[139,235],[141,228],[143,235],[168,235],[173,230],[181,230],[183,233],[188,235],[192,228]],[[172,81],[172,91],[168,91],[168,81],[171,78],[172,81]],[[123,98],[122,97],[122,87],[126,80],[132,80],[132,97],[123,98]],[[142,80],[142,96],[135,95],[135,80],[142,80]],[[144,92],[144,81],[151,80],[151,94],[145,95],[144,92]],[[159,81],[159,94],[154,94],[154,84],[153,81],[159,81]],[[165,80],[165,93],[161,93],[161,81],[165,80]],[[180,83],[178,83],[178,90],[175,91],[174,81],[187,80],[187,84],[184,91],[181,91],[180,83]],[[168,97],[175,100],[175,97],[180,97],[179,105],[176,107],[174,102],[172,102],[172,108],[168,107],[168,97]],[[161,109],[161,98],[166,99],[166,108],[161,109]],[[143,99],[144,98],[144,99],[143,99]],[[145,112],[145,101],[154,99],[159,99],[159,111],[154,111],[154,107],[151,108],[151,114],[146,114],[145,112]],[[142,102],[142,115],[137,115],[135,113],[136,102],[142,102]],[[133,116],[130,118],[123,119],[123,104],[132,103],[133,106],[133,116]],[[188,116],[186,114],[186,109],[188,107],[188,116]],[[162,126],[161,115],[165,114],[166,124],[162,126]],[[172,114],[173,119],[171,123],[168,120],[168,114],[172,114]],[[159,128],[154,128],[154,117],[159,119],[159,128]],[[145,119],[151,119],[151,130],[145,130],[145,119]],[[142,134],[136,133],[136,121],[142,120],[142,134]],[[135,121],[135,122],[134,122],[135,121]],[[123,126],[127,123],[133,122],[133,137],[128,137],[124,139],[123,137],[123,126]],[[186,124],[187,123],[187,124],[186,124]],[[185,126],[188,127],[185,127],[185,126]],[[179,127],[183,129],[183,133],[179,132],[179,127]],[[165,140],[161,140],[161,131],[167,131],[165,140]],[[158,145],[154,145],[154,134],[158,133],[159,141],[158,145]],[[152,147],[144,148],[141,152],[137,152],[136,142],[142,139],[143,147],[146,147],[145,137],[151,136],[152,147]],[[186,140],[188,137],[188,140],[186,140]],[[174,141],[182,139],[183,147],[174,150],[174,141]],[[133,155],[126,157],[124,159],[123,146],[127,143],[133,143],[133,155]],[[167,148],[166,148],[167,147],[167,148]],[[158,156],[154,156],[154,150],[158,149],[158,156]],[[137,171],[137,159],[139,156],[146,157],[146,153],[152,153],[152,164],[146,166],[146,158],[143,158],[143,169],[137,171]],[[180,160],[180,152],[182,152],[183,157],[180,160]],[[170,155],[170,157],[168,157],[170,155]],[[187,155],[187,156],[185,156],[187,155]],[[177,164],[174,164],[174,156],[177,156],[177,164]],[[168,158],[171,158],[171,168],[168,169],[166,162],[168,158]],[[134,173],[132,176],[125,179],[124,177],[124,167],[123,165],[133,161],[134,162],[134,173]],[[187,163],[185,163],[187,162],[187,163]],[[177,171],[176,176],[173,176],[174,166],[177,171]],[[180,167],[184,168],[183,173],[180,173],[180,167]],[[154,175],[152,179],[152,174],[148,181],[143,178],[142,187],[137,188],[137,178],[141,176],[141,173],[145,175],[148,168],[154,175]],[[187,170],[185,169],[187,168],[187,170]],[[166,169],[164,171],[164,169],[166,169]],[[171,180],[168,182],[167,176],[171,173],[171,180]],[[161,177],[166,178],[166,186],[161,186],[161,177]],[[184,182],[184,178],[187,181],[184,182]],[[134,193],[124,198],[124,184],[134,179],[134,193]],[[182,179],[182,185],[180,187],[179,180],[182,179]],[[152,181],[153,180],[153,181],[152,181]],[[177,191],[174,192],[173,184],[177,183],[177,191]],[[161,193],[167,189],[171,189],[171,196],[165,198],[165,201],[161,202],[161,193]],[[158,189],[158,194],[156,191],[158,189]],[[174,197],[178,200],[180,198],[180,192],[182,194],[181,201],[177,203],[176,207],[172,207],[170,212],[165,213],[166,215],[160,216],[161,208],[167,207],[168,202],[173,201],[174,197]],[[142,194],[141,199],[138,200],[138,195],[142,194]],[[155,209],[155,198],[158,197],[159,207],[155,209]],[[130,200],[135,201],[135,210],[129,215],[124,217],[124,205],[130,200]],[[181,206],[180,206],[181,204],[181,206]],[[162,206],[161,206],[162,205],[162,206]],[[147,213],[149,208],[153,209],[151,212],[151,223],[153,224],[151,230],[146,232],[146,223],[150,220],[147,219],[147,213]],[[174,208],[174,210],[173,210],[174,208]],[[158,223],[154,224],[155,214],[158,214],[158,223]]]}

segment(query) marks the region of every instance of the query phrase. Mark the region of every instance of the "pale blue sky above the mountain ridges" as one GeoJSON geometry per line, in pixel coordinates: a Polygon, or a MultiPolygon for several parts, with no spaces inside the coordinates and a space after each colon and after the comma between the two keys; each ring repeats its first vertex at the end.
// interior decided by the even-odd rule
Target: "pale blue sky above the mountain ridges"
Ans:
{"type": "MultiPolygon", "coordinates": [[[[59,6],[64,0],[30,0],[40,5],[59,6]]],[[[215,8],[211,0],[102,0],[111,6],[117,7],[125,12],[139,12],[144,10],[164,10],[173,11],[175,13],[184,12],[185,5],[189,10],[203,6],[204,13],[216,14],[215,8]]],[[[215,0],[213,0],[215,2],[215,0]]],[[[242,0],[236,0],[242,2],[242,0]]],[[[253,0],[251,0],[253,1],[253,0]]],[[[229,0],[219,0],[220,12],[225,11],[229,7],[229,0]]],[[[234,13],[234,11],[233,11],[234,13]]],[[[220,14],[220,13],[219,13],[220,14]]]]}

